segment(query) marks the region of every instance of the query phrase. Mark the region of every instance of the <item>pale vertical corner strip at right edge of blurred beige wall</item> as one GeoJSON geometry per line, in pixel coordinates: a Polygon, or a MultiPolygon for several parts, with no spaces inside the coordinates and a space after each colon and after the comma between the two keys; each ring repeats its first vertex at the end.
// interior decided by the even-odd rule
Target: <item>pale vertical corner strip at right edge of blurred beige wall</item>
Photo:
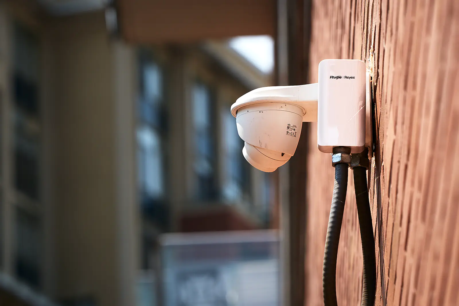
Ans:
{"type": "Polygon", "coordinates": [[[115,158],[117,206],[118,288],[121,305],[134,305],[140,266],[139,201],[137,200],[137,164],[135,107],[137,95],[135,50],[121,41],[112,41],[115,93],[115,158]]]}

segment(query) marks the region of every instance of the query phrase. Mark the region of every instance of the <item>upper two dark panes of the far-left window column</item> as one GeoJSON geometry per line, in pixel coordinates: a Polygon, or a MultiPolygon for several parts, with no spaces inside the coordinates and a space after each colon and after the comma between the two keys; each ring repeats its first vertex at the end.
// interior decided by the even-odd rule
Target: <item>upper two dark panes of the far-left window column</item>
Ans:
{"type": "Polygon", "coordinates": [[[39,43],[33,33],[16,25],[13,32],[12,113],[16,188],[39,199],[40,118],[39,43]]]}

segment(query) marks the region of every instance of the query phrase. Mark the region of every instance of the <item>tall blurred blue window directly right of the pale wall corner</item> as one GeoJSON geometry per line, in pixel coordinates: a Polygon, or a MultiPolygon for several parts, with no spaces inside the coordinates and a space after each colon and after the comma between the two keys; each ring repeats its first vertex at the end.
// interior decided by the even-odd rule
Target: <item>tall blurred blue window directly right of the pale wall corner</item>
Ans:
{"type": "Polygon", "coordinates": [[[137,102],[137,172],[140,195],[140,267],[151,269],[153,232],[167,231],[166,141],[168,134],[164,72],[151,50],[139,52],[139,98],[137,102]]]}

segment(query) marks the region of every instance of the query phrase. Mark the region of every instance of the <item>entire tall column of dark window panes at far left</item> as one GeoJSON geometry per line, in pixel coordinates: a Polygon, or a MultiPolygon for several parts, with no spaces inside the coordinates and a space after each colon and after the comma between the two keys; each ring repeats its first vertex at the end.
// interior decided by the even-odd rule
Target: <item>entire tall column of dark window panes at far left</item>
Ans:
{"type": "Polygon", "coordinates": [[[34,288],[40,287],[42,207],[40,205],[41,118],[39,107],[39,40],[15,25],[12,33],[13,186],[16,198],[14,270],[34,288]]]}

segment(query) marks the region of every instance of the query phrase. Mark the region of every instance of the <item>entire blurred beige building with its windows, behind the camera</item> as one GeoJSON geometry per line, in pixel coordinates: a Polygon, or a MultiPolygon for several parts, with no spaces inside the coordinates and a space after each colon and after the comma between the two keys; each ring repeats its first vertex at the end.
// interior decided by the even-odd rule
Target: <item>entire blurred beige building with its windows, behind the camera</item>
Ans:
{"type": "Polygon", "coordinates": [[[9,305],[135,305],[158,235],[277,227],[277,178],[244,160],[229,113],[271,77],[226,41],[125,43],[87,2],[0,2],[9,305]]]}

